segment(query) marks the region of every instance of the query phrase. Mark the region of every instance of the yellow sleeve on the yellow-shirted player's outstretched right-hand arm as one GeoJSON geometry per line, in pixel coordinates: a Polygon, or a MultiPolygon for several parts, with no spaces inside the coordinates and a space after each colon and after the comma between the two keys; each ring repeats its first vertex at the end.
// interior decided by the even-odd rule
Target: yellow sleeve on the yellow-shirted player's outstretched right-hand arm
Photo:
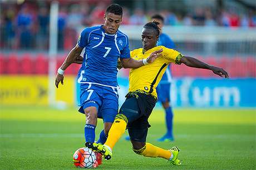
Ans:
{"type": "Polygon", "coordinates": [[[180,59],[183,57],[183,54],[181,54],[180,52],[174,49],[164,48],[163,55],[165,59],[167,59],[169,62],[181,64],[180,59]]]}

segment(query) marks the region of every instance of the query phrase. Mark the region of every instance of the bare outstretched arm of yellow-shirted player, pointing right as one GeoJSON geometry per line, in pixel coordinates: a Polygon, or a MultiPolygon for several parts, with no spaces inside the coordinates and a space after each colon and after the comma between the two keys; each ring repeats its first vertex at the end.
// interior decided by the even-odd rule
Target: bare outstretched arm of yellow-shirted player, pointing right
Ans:
{"type": "Polygon", "coordinates": [[[180,59],[180,62],[184,63],[186,66],[189,67],[210,69],[211,71],[213,71],[214,74],[217,74],[220,77],[229,78],[228,73],[224,71],[223,68],[211,66],[193,57],[184,56],[180,59]]]}

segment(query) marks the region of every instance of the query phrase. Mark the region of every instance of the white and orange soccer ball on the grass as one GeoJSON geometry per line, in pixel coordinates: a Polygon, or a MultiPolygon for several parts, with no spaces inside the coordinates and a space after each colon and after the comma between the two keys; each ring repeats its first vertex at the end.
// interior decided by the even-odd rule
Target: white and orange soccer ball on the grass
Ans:
{"type": "Polygon", "coordinates": [[[73,163],[78,168],[92,168],[97,164],[95,153],[88,148],[79,148],[73,155],[73,163]]]}

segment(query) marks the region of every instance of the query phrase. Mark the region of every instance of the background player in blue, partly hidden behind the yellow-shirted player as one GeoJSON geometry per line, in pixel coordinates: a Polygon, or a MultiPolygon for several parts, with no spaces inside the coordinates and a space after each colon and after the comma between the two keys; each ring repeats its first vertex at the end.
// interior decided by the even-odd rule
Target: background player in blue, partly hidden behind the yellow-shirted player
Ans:
{"type": "MultiPolygon", "coordinates": [[[[164,26],[164,17],[155,14],[151,17],[152,21],[157,21],[160,24],[158,25],[160,28],[160,36],[159,41],[157,42],[157,46],[165,46],[167,48],[175,48],[174,42],[171,38],[162,32],[164,26]]],[[[168,68],[166,69],[160,83],[156,87],[156,93],[158,96],[158,101],[161,102],[165,109],[165,122],[167,127],[167,132],[164,134],[163,137],[157,139],[157,141],[173,141],[173,110],[171,109],[170,105],[170,88],[171,88],[171,64],[169,64],[168,68]]]]}

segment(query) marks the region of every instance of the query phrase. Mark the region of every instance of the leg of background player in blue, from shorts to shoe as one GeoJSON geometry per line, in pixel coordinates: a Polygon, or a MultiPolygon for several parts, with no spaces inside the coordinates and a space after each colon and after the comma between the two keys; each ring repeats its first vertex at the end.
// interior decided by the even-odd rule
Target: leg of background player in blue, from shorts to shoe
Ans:
{"type": "Polygon", "coordinates": [[[170,106],[170,83],[160,84],[157,89],[157,95],[159,96],[159,101],[165,109],[165,123],[167,132],[163,137],[159,138],[157,141],[173,141],[173,110],[170,106]]]}

